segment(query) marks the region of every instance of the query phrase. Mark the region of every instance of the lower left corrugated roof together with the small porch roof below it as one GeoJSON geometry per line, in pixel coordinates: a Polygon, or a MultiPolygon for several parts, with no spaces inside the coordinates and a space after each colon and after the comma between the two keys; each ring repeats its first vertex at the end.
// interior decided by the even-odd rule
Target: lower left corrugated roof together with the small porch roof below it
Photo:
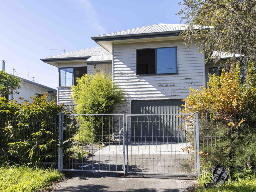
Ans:
{"type": "Polygon", "coordinates": [[[81,59],[87,61],[109,61],[112,59],[112,55],[105,50],[103,47],[92,47],[88,49],[82,49],[79,51],[72,51],[60,55],[55,55],[51,57],[45,57],[40,59],[42,61],[53,61],[53,60],[65,60],[65,59],[81,59]],[[98,59],[98,60],[97,60],[98,59]]]}

